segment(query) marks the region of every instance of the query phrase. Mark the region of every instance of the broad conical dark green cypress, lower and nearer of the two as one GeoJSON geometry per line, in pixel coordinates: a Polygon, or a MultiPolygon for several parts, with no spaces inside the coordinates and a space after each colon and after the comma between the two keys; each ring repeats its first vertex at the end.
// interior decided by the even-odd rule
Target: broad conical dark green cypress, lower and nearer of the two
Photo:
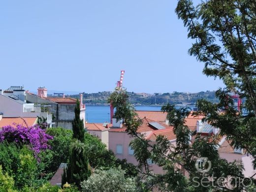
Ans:
{"type": "Polygon", "coordinates": [[[85,151],[85,144],[76,140],[71,145],[67,168],[64,169],[62,184],[75,184],[79,189],[80,183],[91,175],[91,167],[85,151]]]}

